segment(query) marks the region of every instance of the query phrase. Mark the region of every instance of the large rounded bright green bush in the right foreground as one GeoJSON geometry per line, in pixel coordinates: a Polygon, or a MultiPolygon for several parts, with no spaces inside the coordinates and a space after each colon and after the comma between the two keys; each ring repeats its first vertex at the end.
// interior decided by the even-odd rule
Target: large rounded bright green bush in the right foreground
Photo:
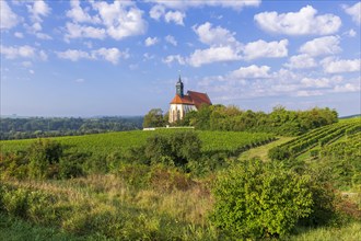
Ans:
{"type": "Polygon", "coordinates": [[[212,223],[240,239],[290,233],[301,219],[318,217],[312,216],[321,202],[317,197],[324,202],[331,199],[315,187],[310,175],[259,160],[244,161],[224,171],[212,192],[216,198],[212,223]]]}

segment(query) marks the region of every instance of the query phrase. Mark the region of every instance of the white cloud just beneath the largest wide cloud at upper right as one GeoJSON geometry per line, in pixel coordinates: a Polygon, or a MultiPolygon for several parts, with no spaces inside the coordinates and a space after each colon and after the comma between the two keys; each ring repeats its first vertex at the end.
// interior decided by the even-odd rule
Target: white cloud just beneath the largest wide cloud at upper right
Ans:
{"type": "Polygon", "coordinates": [[[335,55],[342,50],[339,43],[340,38],[338,36],[318,37],[303,44],[300,47],[300,53],[310,56],[335,55]]]}

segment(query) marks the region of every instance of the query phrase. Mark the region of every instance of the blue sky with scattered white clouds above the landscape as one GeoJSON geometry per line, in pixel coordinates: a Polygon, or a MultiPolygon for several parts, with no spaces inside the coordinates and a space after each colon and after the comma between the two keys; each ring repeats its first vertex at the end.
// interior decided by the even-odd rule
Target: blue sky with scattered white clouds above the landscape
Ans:
{"type": "Polygon", "coordinates": [[[0,4],[1,115],[165,113],[179,73],[213,104],[361,113],[360,1],[0,4]]]}

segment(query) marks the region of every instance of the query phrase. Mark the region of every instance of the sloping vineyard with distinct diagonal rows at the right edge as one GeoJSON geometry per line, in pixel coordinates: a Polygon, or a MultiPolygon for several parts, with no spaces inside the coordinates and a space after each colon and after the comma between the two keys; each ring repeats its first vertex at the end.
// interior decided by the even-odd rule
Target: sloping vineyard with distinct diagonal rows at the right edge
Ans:
{"type": "MultiPolygon", "coordinates": [[[[360,118],[341,120],[339,123],[314,129],[305,135],[292,139],[269,150],[272,160],[296,158],[307,151],[312,157],[318,157],[319,150],[345,138],[349,140],[359,138],[361,131],[360,118]]],[[[360,141],[360,139],[359,139],[360,141]]]]}

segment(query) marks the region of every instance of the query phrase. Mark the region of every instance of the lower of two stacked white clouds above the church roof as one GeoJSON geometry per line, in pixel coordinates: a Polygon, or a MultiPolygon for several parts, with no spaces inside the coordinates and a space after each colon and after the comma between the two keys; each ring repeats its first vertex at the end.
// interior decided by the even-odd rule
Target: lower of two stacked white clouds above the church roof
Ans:
{"type": "Polygon", "coordinates": [[[240,60],[234,49],[230,46],[210,47],[207,49],[196,49],[187,59],[187,62],[193,67],[200,67],[206,64],[240,60]]]}

